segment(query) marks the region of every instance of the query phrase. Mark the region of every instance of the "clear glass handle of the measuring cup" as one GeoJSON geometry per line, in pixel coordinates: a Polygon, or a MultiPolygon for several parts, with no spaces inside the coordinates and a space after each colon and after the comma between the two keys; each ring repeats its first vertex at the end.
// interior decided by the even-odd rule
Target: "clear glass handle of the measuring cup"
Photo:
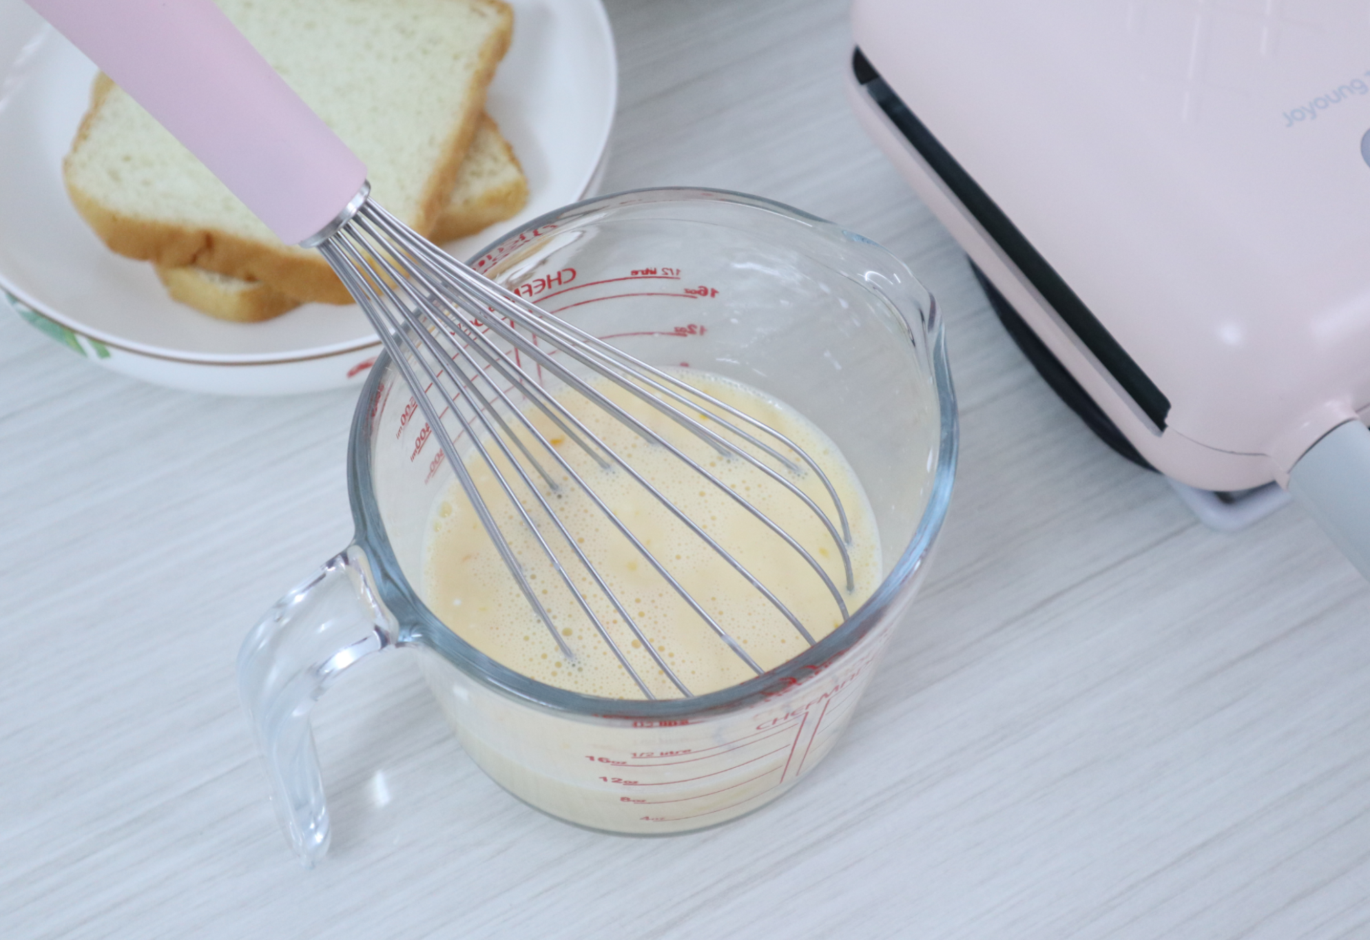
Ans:
{"type": "Polygon", "coordinates": [[[277,818],[304,867],[329,851],[329,811],[310,710],[352,663],[396,645],[358,545],[281,597],[238,652],[238,693],[271,777],[277,818]]]}

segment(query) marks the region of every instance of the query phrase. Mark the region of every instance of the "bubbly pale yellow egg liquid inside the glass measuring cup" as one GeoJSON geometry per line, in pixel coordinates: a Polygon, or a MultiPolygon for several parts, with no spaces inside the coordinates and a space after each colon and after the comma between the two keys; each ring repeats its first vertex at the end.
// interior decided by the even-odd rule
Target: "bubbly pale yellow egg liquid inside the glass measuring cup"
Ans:
{"type": "MultiPolygon", "coordinates": [[[[719,481],[788,532],[808,549],[837,585],[848,611],[855,611],[880,582],[880,541],[869,502],[836,445],[793,408],[755,389],[695,370],[677,370],[675,375],[775,429],[822,467],[837,491],[851,523],[852,544],[848,551],[854,591],[844,589],[847,577],[832,534],[786,488],[745,460],[721,455],[714,447],[611,381],[601,378],[595,388],[630,411],[652,432],[685,451],[700,467],[715,474],[719,481]]],[[[829,588],[810,565],[764,523],[756,521],[686,462],[671,455],[667,448],[649,443],[581,395],[563,391],[558,400],[584,422],[590,433],[622,455],[641,477],[732,552],[803,622],[815,640],[838,626],[841,614],[829,588]]],[[[697,412],[693,417],[699,417],[697,412]]],[[[621,467],[601,469],[545,415],[530,411],[529,419],[590,491],[623,521],[660,565],[763,670],[781,665],[808,647],[789,619],[762,592],[662,507],[630,473],[621,467]]],[[[734,419],[734,423],[738,422],[734,419]]],[[[736,438],[730,440],[747,447],[807,493],[837,525],[832,500],[815,473],[806,470],[796,474],[785,470],[755,447],[741,444],[736,438]]],[[[489,449],[496,449],[489,441],[486,445],[489,449]]],[[[537,448],[530,447],[530,449],[538,454],[537,448]]],[[[775,449],[788,451],[784,445],[775,445],[775,449]]],[[[755,676],[751,667],[656,573],[651,562],[616,530],[588,495],[574,484],[569,473],[545,454],[538,454],[538,460],[556,481],[558,491],[552,492],[525,463],[529,475],[553,506],[570,537],[601,573],[610,592],[637,622],[644,639],[695,695],[726,688],[755,676]]],[[[504,458],[497,458],[496,463],[544,532],[545,540],[562,560],[573,584],[588,599],[606,632],[652,693],[658,697],[678,696],[678,689],[625,623],[622,613],[606,597],[547,515],[536,506],[536,500],[516,481],[514,467],[504,458]]],[[[562,655],[556,640],[525,599],[455,480],[447,492],[434,500],[425,552],[423,593],[429,607],[467,643],[525,676],[586,695],[643,697],[641,689],[618,662],[610,644],[599,636],[590,618],[566,589],[560,576],[527,530],[518,508],[503,495],[484,460],[473,456],[467,459],[466,466],[496,523],[521,559],[530,588],[548,610],[562,640],[571,648],[574,659],[569,660],[562,655]]]]}

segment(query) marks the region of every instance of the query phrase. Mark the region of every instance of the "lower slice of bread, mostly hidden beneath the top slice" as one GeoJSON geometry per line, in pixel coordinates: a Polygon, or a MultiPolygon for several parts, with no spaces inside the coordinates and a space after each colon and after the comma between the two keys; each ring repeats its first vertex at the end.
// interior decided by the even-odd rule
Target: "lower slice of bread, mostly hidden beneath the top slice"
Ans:
{"type": "MultiPolygon", "coordinates": [[[[482,115],[432,237],[434,241],[451,241],[474,234],[510,218],[523,208],[525,201],[527,180],[514,149],[495,121],[482,115]]],[[[255,323],[304,303],[260,281],[244,281],[195,266],[158,264],[156,269],[171,297],[219,319],[255,323]]]]}

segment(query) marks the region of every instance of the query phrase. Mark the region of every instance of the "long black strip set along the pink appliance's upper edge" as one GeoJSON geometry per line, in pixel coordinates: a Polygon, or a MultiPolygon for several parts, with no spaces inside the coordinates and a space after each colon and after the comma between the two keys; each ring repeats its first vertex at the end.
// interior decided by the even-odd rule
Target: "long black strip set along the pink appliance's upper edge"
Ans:
{"type": "Polygon", "coordinates": [[[1147,373],[1133,362],[1128,351],[1115,340],[1104,325],[1091,312],[1089,307],[1070,289],[1070,285],[1047,263],[1047,259],[1023,237],[1022,232],[1008,221],[1004,211],[995,204],[995,200],[980,188],[970,174],[947,152],[936,137],[914,116],[908,106],[900,100],[895,90],[880,77],[870,60],[858,48],[852,52],[852,73],[862,84],[871,100],[893,122],[899,132],[908,140],[915,151],[927,162],[927,166],[941,177],[941,181],[951,189],[952,195],[960,200],[966,211],[974,217],[985,232],[989,233],[1008,259],[1018,266],[1023,277],[1056,311],[1060,319],[1074,330],[1080,341],[1085,344],[1099,363],[1108,370],[1118,385],[1132,396],[1137,407],[1155,422],[1156,428],[1164,429],[1166,415],[1170,414],[1170,399],[1167,399],[1147,373]]]}

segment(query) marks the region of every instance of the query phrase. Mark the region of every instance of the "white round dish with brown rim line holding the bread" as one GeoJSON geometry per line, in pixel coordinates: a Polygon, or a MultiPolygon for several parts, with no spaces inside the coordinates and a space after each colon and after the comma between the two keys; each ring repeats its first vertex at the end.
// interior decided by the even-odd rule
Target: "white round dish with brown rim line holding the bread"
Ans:
{"type": "MultiPolygon", "coordinates": [[[[604,156],[618,90],[599,0],[510,0],[514,42],[486,108],[529,182],[515,218],[448,247],[458,258],[581,199],[604,156]]],[[[356,307],[308,304],[264,323],[184,307],[152,266],[108,251],[62,184],[95,66],[22,0],[0,0],[0,288],[21,317],[136,378],[230,395],[359,382],[379,343],[356,307]]]]}

